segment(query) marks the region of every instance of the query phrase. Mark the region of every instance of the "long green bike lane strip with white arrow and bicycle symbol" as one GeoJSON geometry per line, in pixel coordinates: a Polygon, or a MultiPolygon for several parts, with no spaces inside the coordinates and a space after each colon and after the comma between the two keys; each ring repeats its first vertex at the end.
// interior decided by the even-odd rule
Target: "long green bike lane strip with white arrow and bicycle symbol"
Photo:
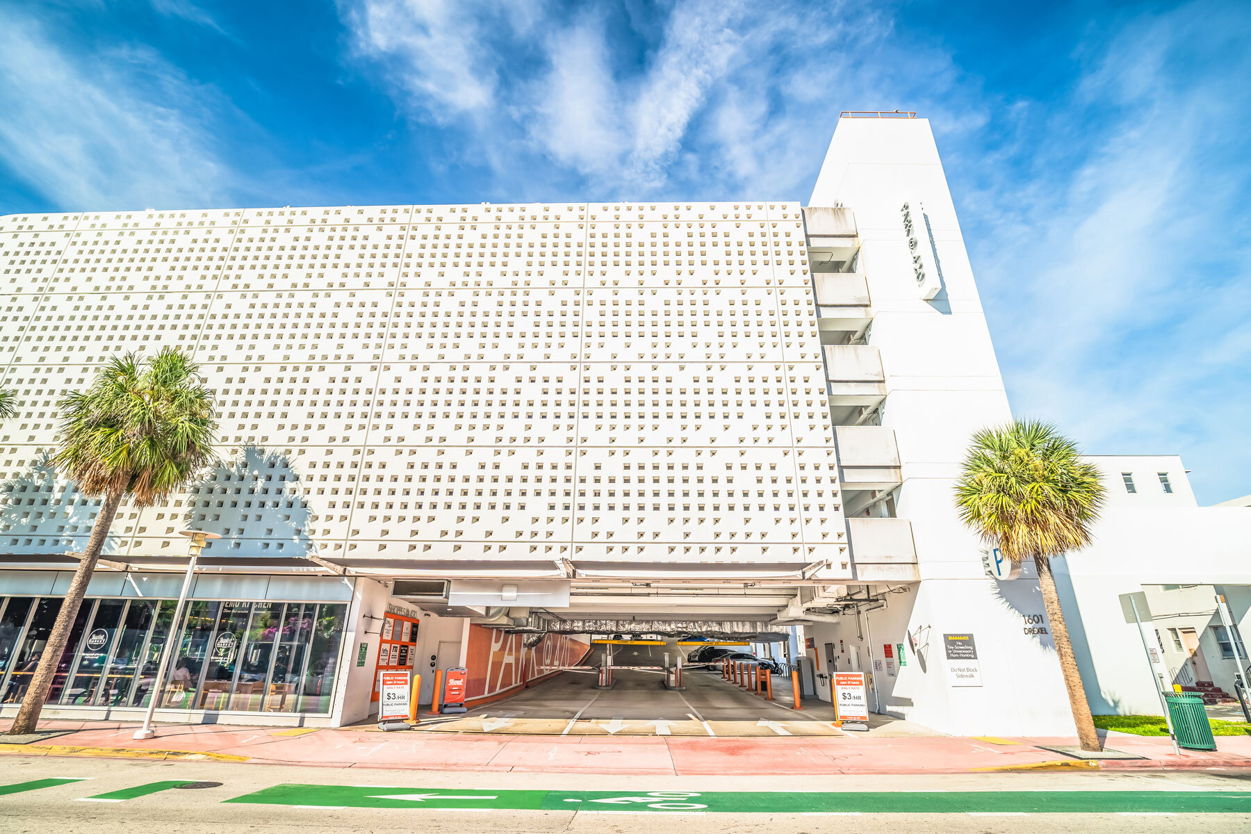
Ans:
{"type": "Polygon", "coordinates": [[[610,791],[425,790],[279,784],[225,800],[300,808],[573,810],[722,814],[1206,814],[1251,813],[1251,791],[610,791]]]}

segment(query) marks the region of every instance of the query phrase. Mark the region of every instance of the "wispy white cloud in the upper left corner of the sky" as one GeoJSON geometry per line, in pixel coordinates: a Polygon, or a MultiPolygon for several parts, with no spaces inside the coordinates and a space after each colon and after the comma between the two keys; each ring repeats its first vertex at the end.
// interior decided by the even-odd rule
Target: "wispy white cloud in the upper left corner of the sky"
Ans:
{"type": "Polygon", "coordinates": [[[63,208],[225,201],[210,99],[149,49],[70,54],[33,20],[0,26],[0,160],[63,208]]]}

